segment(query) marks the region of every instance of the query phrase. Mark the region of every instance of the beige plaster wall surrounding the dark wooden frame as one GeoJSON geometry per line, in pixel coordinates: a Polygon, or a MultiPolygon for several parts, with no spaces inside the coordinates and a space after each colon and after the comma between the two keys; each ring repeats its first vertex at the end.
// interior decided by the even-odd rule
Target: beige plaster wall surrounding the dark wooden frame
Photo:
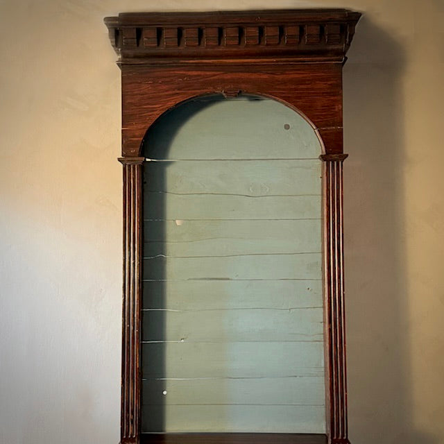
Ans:
{"type": "MultiPolygon", "coordinates": [[[[117,443],[119,69],[102,19],[269,0],[0,3],[0,443],[117,443]]],[[[444,443],[444,2],[365,12],[344,69],[353,444],[444,443]]]]}

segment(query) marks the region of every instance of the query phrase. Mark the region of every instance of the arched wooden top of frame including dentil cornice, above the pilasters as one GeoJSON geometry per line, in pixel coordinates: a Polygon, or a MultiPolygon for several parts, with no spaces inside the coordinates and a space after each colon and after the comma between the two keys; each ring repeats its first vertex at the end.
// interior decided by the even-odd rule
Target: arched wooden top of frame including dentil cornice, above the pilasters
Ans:
{"type": "Polygon", "coordinates": [[[268,96],[305,115],[342,153],[342,65],[361,14],[345,9],[130,12],[105,18],[122,71],[122,155],[202,94],[268,96]]]}

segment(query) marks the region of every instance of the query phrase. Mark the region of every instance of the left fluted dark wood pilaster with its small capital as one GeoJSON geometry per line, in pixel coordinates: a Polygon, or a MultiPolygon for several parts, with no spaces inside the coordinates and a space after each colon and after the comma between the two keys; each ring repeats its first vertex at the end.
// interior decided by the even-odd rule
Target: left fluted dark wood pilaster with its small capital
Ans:
{"type": "Polygon", "coordinates": [[[119,161],[123,164],[121,444],[139,444],[141,220],[144,157],[121,157],[119,161]]]}

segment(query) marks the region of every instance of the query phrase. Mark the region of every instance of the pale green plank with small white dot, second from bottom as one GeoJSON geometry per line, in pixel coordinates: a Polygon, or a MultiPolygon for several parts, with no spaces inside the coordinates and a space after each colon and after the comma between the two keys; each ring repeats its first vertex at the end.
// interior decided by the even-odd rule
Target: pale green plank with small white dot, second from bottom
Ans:
{"type": "Polygon", "coordinates": [[[149,379],[142,383],[142,404],[322,406],[324,391],[323,376],[265,379],[149,379]]]}

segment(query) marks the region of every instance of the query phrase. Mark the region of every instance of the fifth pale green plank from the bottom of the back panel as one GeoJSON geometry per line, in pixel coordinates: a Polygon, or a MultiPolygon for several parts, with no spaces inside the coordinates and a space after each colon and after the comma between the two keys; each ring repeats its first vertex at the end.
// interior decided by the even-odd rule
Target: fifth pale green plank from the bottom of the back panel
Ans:
{"type": "Polygon", "coordinates": [[[320,280],[149,281],[144,282],[143,295],[145,309],[211,310],[321,307],[322,282],[320,280]]]}

